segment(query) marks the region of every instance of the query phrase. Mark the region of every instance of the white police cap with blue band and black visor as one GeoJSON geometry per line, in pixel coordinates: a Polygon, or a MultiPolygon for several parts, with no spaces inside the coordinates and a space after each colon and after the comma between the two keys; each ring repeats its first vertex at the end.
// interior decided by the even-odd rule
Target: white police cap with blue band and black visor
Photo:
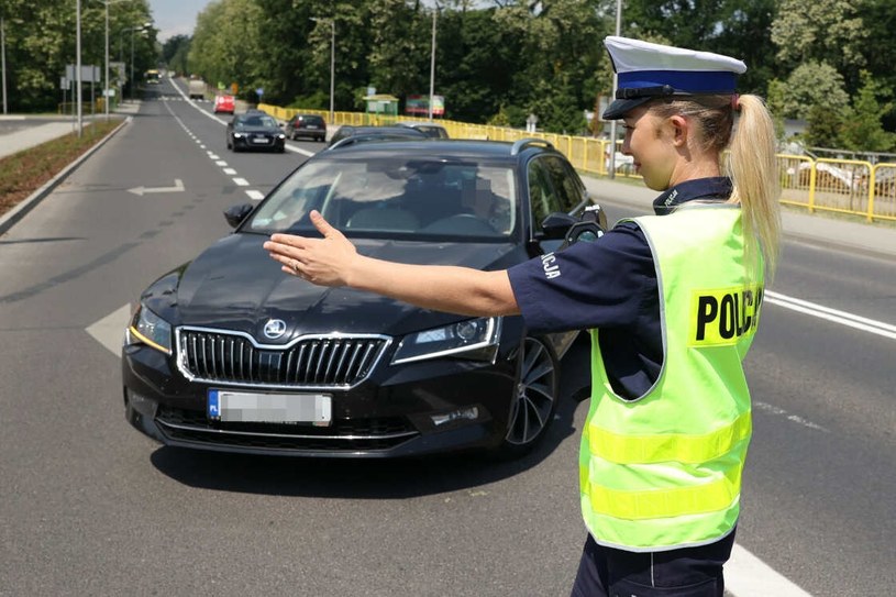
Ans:
{"type": "Polygon", "coordinates": [[[746,71],[741,60],[683,47],[652,44],[609,35],[604,45],[618,76],[616,100],[604,120],[618,120],[654,98],[708,93],[734,93],[738,75],[746,71]]]}

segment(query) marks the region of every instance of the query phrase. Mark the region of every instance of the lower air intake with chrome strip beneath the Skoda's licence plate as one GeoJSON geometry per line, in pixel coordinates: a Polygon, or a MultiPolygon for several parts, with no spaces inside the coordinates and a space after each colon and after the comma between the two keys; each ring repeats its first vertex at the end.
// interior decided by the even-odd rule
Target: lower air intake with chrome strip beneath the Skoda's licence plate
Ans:
{"type": "Polygon", "coordinates": [[[420,433],[403,417],[338,419],[330,427],[209,421],[204,412],[162,405],[156,422],[173,440],[285,451],[388,450],[420,433]]]}

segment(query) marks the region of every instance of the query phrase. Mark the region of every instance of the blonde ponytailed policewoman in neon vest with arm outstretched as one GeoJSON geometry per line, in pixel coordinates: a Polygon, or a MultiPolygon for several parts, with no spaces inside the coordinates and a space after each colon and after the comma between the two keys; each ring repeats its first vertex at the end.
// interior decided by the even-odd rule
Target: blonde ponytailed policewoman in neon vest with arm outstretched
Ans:
{"type": "Polygon", "coordinates": [[[741,363],[778,247],[772,120],[760,98],[737,95],[740,60],[605,44],[619,91],[604,118],[622,120],[622,153],[660,192],[655,215],[557,252],[550,272],[541,258],[501,272],[373,259],[318,213],[323,239],[275,234],[265,248],[316,284],[522,314],[535,332],[590,330],[578,463],[587,539],[572,593],[721,596],[751,435],[741,363]]]}

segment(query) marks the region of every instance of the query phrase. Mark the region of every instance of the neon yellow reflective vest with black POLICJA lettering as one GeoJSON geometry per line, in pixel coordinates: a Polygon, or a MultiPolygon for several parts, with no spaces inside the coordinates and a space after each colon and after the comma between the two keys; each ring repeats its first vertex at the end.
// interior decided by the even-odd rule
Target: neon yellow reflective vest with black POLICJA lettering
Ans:
{"type": "Polygon", "coordinates": [[[763,292],[762,264],[754,279],[744,267],[740,214],[734,204],[700,204],[634,219],[656,267],[663,366],[644,396],[624,400],[591,331],[579,477],[585,524],[599,544],[703,545],[737,523],[752,429],[741,363],[763,292]]]}

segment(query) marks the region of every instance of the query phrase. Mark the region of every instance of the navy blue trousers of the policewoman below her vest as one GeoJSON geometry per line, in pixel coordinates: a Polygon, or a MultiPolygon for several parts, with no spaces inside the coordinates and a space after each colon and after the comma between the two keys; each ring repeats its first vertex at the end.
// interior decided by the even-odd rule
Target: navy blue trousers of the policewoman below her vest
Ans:
{"type": "Polygon", "coordinates": [[[572,597],[722,597],[734,532],[709,545],[635,553],[585,541],[572,597]]]}

